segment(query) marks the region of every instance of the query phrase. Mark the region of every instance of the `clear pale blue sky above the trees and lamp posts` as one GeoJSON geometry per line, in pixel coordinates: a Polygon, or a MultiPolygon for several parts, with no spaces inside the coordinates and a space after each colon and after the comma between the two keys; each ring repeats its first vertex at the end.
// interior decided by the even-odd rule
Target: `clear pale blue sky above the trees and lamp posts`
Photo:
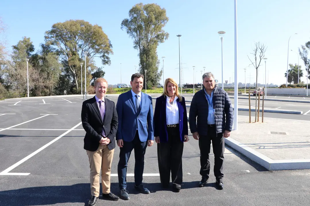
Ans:
{"type": "MultiPolygon", "coordinates": [[[[23,36],[30,37],[36,49],[44,42],[44,32],[52,24],[69,19],[83,19],[91,24],[103,27],[113,44],[114,54],[111,65],[105,66],[105,78],[109,84],[120,83],[120,63],[122,63],[122,83],[130,83],[131,74],[138,65],[138,52],[133,49],[132,40],[121,30],[121,22],[128,17],[128,11],[141,1],[3,1],[0,16],[7,25],[7,46],[17,44],[23,36]]],[[[206,0],[154,0],[142,1],[157,3],[167,11],[169,21],[164,27],[170,34],[168,40],[157,48],[158,57],[166,56],[165,78],[179,79],[179,47],[184,68],[184,83],[193,83],[193,68],[197,74],[196,83],[200,81],[200,71],[206,66],[215,79],[221,82],[221,41],[218,31],[225,31],[223,41],[224,81],[233,77],[234,72],[234,1],[206,0]],[[196,72],[198,71],[198,72],[196,72]]],[[[238,82],[244,82],[243,68],[250,64],[250,55],[254,43],[260,41],[268,46],[266,57],[269,84],[286,83],[287,44],[297,52],[301,44],[310,40],[308,26],[309,0],[238,0],[238,82]]],[[[289,63],[298,63],[297,54],[289,52],[289,63]]],[[[97,66],[102,66],[96,60],[97,66]]],[[[299,59],[302,69],[305,66],[299,59]]],[[[162,60],[160,68],[162,67],[162,60]]],[[[259,71],[259,83],[264,81],[264,64],[259,71]]],[[[306,74],[306,72],[303,72],[306,74]]],[[[306,81],[306,77],[302,78],[306,81]]],[[[162,82],[162,80],[161,80],[162,82]]],[[[178,82],[178,81],[177,81],[178,82]]],[[[246,82],[255,82],[255,69],[248,67],[246,82]]]]}

